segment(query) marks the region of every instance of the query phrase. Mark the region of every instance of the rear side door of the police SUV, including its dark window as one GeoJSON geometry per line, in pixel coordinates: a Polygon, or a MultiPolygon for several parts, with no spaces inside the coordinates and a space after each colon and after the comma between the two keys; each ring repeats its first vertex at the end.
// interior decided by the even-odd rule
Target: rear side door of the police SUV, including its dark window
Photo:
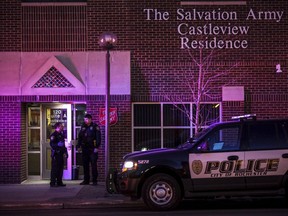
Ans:
{"type": "Polygon", "coordinates": [[[288,171],[288,122],[247,122],[247,189],[277,189],[288,171]]]}

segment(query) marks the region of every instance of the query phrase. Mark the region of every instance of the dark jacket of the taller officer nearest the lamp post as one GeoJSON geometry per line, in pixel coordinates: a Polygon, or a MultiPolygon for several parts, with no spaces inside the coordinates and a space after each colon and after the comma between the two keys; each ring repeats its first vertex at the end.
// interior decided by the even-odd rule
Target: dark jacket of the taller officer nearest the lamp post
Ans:
{"type": "Polygon", "coordinates": [[[94,149],[98,148],[101,143],[101,132],[97,124],[91,122],[88,126],[85,123],[82,124],[79,135],[77,147],[82,149],[94,149]]]}

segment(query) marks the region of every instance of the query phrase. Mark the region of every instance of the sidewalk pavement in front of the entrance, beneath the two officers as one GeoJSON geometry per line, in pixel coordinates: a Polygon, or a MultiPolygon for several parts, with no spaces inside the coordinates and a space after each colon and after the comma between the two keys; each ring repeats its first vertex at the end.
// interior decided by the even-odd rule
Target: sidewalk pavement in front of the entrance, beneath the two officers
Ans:
{"type": "Polygon", "coordinates": [[[96,208],[143,205],[121,194],[110,194],[105,183],[80,185],[82,180],[64,181],[66,187],[50,187],[49,181],[0,184],[0,210],[33,208],[96,208]]]}

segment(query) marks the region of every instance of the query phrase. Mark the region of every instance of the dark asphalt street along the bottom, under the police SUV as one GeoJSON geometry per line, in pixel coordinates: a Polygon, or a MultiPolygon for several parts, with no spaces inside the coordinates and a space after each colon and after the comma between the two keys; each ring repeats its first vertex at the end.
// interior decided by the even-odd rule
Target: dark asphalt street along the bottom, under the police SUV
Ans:
{"type": "Polygon", "coordinates": [[[211,200],[189,200],[184,201],[181,206],[174,211],[156,212],[150,211],[144,205],[136,206],[103,206],[95,208],[67,208],[63,209],[14,209],[2,210],[0,215],[69,215],[69,216],[90,216],[90,215],[137,215],[137,216],[174,216],[174,215],[199,215],[199,216],[287,216],[288,205],[283,198],[233,198],[233,199],[211,199],[211,200]]]}

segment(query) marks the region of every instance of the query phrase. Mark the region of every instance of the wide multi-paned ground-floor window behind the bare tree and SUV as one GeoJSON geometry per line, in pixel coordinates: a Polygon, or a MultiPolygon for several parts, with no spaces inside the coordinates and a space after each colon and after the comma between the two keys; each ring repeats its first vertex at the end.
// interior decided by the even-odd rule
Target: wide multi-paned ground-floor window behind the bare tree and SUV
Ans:
{"type": "MultiPolygon", "coordinates": [[[[174,148],[195,134],[195,104],[134,103],[132,123],[133,150],[174,148]],[[193,117],[192,117],[193,116],[193,117]]],[[[201,104],[201,120],[206,128],[220,121],[220,104],[201,104]]]]}

